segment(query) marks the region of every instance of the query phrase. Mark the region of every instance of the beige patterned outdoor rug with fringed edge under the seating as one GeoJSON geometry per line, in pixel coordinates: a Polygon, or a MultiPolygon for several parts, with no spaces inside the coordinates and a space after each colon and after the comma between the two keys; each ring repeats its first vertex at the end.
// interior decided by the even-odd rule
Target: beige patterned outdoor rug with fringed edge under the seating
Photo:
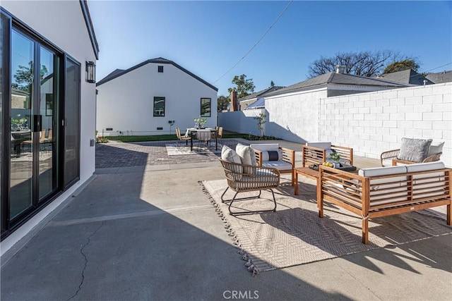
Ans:
{"type": "MultiPolygon", "coordinates": [[[[275,212],[231,216],[221,194],[226,180],[203,181],[203,190],[225,221],[234,245],[243,253],[248,270],[253,275],[287,266],[307,264],[346,254],[364,252],[388,245],[400,245],[415,240],[452,233],[446,224],[446,207],[415,211],[369,220],[369,244],[361,242],[361,219],[334,204],[325,203],[324,218],[316,206],[316,187],[301,183],[302,195],[294,195],[289,182],[275,191],[275,212]]],[[[225,198],[231,199],[232,190],[225,198]]],[[[241,192],[237,197],[256,196],[258,192],[241,192]]],[[[261,199],[235,201],[238,209],[272,209],[271,192],[263,191],[261,199]]]]}

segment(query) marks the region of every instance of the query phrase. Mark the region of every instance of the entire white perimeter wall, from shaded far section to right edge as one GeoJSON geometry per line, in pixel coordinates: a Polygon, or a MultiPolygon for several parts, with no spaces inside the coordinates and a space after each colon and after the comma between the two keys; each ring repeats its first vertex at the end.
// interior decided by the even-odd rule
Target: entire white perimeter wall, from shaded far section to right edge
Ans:
{"type": "MultiPolygon", "coordinates": [[[[452,82],[338,97],[327,97],[326,88],[297,92],[266,98],[266,114],[266,135],[299,143],[331,141],[369,158],[400,148],[402,137],[444,141],[441,161],[452,167],[452,82]]],[[[220,125],[249,133],[243,118],[222,113],[220,125]]]]}

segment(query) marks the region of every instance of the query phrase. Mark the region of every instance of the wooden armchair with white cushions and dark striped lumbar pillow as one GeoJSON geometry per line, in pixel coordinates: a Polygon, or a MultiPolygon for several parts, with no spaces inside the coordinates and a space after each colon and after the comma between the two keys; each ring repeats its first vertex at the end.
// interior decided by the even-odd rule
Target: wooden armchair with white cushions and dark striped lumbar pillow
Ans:
{"type": "Polygon", "coordinates": [[[258,166],[273,167],[280,173],[291,173],[291,185],[295,185],[295,150],[280,147],[278,143],[250,145],[256,154],[258,166]]]}

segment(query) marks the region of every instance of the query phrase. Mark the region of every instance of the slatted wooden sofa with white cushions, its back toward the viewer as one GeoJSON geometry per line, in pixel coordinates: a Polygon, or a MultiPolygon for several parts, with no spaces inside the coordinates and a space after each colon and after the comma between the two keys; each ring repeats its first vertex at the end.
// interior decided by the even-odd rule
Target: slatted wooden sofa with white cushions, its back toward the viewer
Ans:
{"type": "Polygon", "coordinates": [[[319,166],[317,187],[319,216],[323,202],[331,202],[362,216],[362,242],[369,242],[369,219],[447,207],[446,223],[451,225],[451,168],[441,161],[404,166],[363,168],[347,173],[319,166]]]}

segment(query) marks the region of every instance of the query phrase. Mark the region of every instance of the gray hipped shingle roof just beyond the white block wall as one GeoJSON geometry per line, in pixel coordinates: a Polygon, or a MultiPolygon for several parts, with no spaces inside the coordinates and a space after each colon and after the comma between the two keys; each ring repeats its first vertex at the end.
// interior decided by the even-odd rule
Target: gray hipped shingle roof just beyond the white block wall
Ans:
{"type": "Polygon", "coordinates": [[[266,96],[273,96],[278,94],[285,94],[304,90],[314,90],[321,87],[327,87],[328,84],[336,85],[356,85],[356,86],[374,86],[374,87],[407,87],[408,84],[400,82],[391,82],[389,80],[366,78],[364,76],[351,75],[345,73],[330,72],[298,82],[295,85],[282,88],[280,90],[270,92],[266,96]]]}

